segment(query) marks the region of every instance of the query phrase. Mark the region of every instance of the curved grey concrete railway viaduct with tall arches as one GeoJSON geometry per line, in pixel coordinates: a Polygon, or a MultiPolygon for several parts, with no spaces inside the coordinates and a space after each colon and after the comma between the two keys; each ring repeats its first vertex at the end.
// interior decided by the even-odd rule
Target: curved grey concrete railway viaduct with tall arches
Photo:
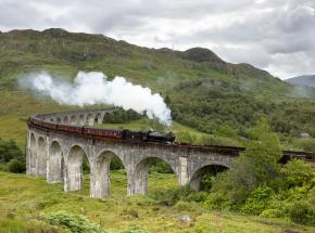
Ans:
{"type": "MultiPolygon", "coordinates": [[[[43,121],[63,125],[93,126],[102,122],[114,109],[54,113],[41,115],[43,121]]],[[[201,147],[152,142],[129,142],[75,133],[28,125],[26,145],[27,173],[43,177],[48,183],[64,183],[64,191],[83,187],[83,159],[90,166],[90,196],[110,195],[110,163],[119,157],[127,174],[127,195],[148,192],[148,173],[154,158],[161,158],[173,169],[180,185],[199,190],[204,168],[218,165],[230,168],[240,153],[228,147],[201,147]]]]}

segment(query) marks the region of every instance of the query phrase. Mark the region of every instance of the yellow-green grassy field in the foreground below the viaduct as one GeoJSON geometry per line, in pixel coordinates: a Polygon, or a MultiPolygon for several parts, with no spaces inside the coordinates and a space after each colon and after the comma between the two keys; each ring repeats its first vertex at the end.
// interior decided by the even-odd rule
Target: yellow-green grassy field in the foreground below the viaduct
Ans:
{"type": "Polygon", "coordinates": [[[174,174],[151,173],[148,196],[126,196],[126,176],[112,173],[112,196],[91,199],[88,196],[88,178],[84,190],[64,193],[62,184],[49,185],[41,178],[0,172],[0,232],[63,232],[46,222],[46,216],[64,210],[86,216],[104,229],[122,230],[137,225],[148,232],[314,232],[315,228],[301,226],[286,220],[264,219],[236,213],[215,212],[197,203],[180,200],[175,206],[158,204],[154,193],[177,185],[174,174]],[[189,215],[185,222],[180,218],[189,215]]]}

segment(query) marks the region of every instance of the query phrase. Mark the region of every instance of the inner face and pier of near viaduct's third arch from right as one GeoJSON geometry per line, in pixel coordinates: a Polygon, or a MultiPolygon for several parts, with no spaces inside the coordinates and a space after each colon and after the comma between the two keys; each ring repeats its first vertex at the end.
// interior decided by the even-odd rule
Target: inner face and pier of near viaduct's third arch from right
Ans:
{"type": "Polygon", "coordinates": [[[102,151],[96,158],[94,167],[94,183],[92,197],[103,198],[111,194],[111,160],[113,157],[118,157],[126,168],[122,157],[110,150],[102,151]]]}

